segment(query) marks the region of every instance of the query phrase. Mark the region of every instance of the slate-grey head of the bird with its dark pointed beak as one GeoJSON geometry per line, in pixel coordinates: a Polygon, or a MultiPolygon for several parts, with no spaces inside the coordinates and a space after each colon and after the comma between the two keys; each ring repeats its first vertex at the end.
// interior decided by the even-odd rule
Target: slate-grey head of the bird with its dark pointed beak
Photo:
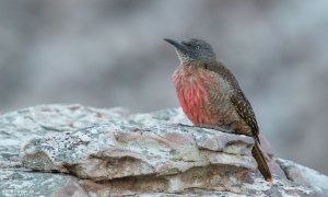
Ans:
{"type": "Polygon", "coordinates": [[[164,40],[175,47],[181,63],[197,59],[216,59],[211,45],[202,39],[190,38],[179,42],[164,38],[164,40]]]}

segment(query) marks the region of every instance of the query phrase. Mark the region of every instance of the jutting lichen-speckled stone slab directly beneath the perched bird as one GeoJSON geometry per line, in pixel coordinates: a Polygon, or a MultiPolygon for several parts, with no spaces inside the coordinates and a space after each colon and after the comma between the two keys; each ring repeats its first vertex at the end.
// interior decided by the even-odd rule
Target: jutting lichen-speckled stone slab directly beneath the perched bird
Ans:
{"type": "Polygon", "coordinates": [[[31,140],[23,147],[23,166],[96,181],[178,174],[209,165],[256,169],[248,137],[231,135],[229,140],[220,141],[226,134],[164,125],[154,129],[127,123],[94,125],[31,140]],[[216,148],[207,149],[211,138],[216,139],[216,148]]]}

